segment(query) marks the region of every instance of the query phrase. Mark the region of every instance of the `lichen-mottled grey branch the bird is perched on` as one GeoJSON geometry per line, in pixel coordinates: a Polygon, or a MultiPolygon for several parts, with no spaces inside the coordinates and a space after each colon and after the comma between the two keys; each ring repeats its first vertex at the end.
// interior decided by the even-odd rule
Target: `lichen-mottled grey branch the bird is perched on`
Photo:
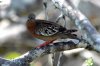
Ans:
{"type": "MultiPolygon", "coordinates": [[[[74,40],[69,40],[65,42],[51,43],[42,47],[36,47],[30,50],[29,52],[23,54],[22,56],[15,58],[13,60],[4,60],[4,59],[2,60],[1,58],[0,61],[2,63],[0,63],[0,66],[29,66],[30,62],[32,62],[33,60],[41,56],[55,53],[55,52],[64,51],[64,50],[70,50],[77,47],[82,47],[80,46],[80,44],[84,44],[84,41],[82,40],[80,42],[75,42],[74,40]]],[[[88,43],[86,43],[85,48],[87,47],[91,48],[91,46],[89,46],[88,43]]]]}

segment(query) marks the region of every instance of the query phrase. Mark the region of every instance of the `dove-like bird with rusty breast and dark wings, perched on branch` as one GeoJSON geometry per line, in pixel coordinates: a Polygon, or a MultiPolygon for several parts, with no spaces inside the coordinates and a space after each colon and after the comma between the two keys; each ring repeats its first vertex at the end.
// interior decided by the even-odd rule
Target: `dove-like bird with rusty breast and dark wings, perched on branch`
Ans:
{"type": "Polygon", "coordinates": [[[58,23],[36,19],[33,13],[29,14],[26,26],[34,38],[47,41],[46,44],[57,39],[77,38],[77,35],[73,34],[77,31],[76,29],[66,29],[58,23]]]}

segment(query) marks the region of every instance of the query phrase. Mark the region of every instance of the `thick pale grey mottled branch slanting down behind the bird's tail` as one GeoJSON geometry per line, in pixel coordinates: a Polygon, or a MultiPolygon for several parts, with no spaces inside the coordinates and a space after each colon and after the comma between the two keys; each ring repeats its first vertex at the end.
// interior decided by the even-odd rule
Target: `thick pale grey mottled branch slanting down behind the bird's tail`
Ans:
{"type": "Polygon", "coordinates": [[[98,34],[88,18],[67,2],[63,2],[63,4],[59,0],[52,0],[52,2],[82,31],[84,39],[86,39],[96,51],[100,52],[100,34],[98,34]]]}

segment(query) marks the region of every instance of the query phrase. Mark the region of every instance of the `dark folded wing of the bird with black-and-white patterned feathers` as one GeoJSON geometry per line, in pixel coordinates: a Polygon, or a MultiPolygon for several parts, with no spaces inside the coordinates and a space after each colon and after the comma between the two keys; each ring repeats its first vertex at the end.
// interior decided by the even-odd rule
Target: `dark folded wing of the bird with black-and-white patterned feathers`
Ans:
{"type": "Polygon", "coordinates": [[[52,36],[59,32],[60,25],[45,21],[45,20],[36,20],[37,28],[36,33],[43,36],[52,36]]]}

